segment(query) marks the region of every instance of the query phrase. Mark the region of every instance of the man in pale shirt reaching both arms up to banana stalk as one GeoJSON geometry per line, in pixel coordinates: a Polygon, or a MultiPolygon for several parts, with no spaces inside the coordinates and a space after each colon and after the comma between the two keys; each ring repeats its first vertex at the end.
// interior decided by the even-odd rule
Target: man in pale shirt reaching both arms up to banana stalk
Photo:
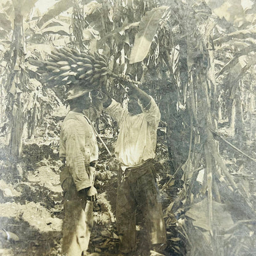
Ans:
{"type": "Polygon", "coordinates": [[[133,84],[128,86],[128,110],[110,98],[103,103],[106,113],[119,125],[115,147],[116,158],[122,166],[116,207],[119,255],[135,255],[136,217],[140,211],[145,236],[138,251],[148,256],[150,249],[166,243],[166,230],[153,166],[160,112],[152,97],[133,84]]]}

